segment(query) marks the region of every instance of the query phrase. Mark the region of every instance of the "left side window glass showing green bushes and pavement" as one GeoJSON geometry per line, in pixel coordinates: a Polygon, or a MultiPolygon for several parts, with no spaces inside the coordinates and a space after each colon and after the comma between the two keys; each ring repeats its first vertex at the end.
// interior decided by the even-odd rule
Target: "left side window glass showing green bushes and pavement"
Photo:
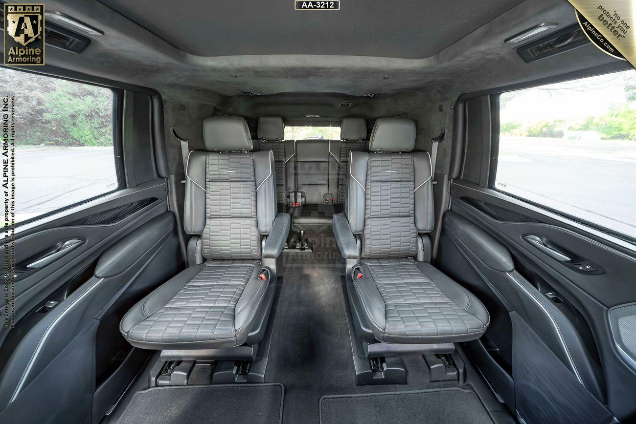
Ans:
{"type": "Polygon", "coordinates": [[[119,189],[109,88],[0,68],[15,97],[16,223],[119,189]]]}

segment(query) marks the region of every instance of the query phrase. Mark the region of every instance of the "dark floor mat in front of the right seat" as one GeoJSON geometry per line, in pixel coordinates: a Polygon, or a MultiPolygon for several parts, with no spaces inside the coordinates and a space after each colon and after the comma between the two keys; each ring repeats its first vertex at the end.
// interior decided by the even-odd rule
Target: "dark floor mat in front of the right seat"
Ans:
{"type": "Polygon", "coordinates": [[[476,394],[460,388],[324,396],[321,424],[491,424],[476,394]]]}

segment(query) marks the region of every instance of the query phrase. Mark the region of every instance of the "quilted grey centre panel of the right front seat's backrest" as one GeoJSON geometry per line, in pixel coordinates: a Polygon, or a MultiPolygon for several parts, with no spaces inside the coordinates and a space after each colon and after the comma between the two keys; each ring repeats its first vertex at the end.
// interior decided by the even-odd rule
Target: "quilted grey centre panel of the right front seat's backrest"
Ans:
{"type": "Polygon", "coordinates": [[[415,170],[409,153],[369,154],[364,187],[363,258],[405,258],[417,251],[415,170]]]}

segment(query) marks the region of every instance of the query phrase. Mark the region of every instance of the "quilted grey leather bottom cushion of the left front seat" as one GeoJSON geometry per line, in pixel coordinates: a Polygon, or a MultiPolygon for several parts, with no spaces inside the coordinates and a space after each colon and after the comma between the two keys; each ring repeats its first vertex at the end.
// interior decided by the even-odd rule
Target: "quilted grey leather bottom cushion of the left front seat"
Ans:
{"type": "Polygon", "coordinates": [[[157,350],[241,345],[268,286],[261,268],[251,260],[186,268],[130,309],[121,333],[135,347],[157,350]]]}

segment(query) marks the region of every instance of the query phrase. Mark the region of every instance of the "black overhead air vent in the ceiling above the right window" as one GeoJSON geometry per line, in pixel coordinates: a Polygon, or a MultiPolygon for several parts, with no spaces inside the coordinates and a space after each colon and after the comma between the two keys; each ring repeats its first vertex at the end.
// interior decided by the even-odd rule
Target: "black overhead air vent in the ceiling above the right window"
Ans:
{"type": "Polygon", "coordinates": [[[517,49],[517,53],[522,56],[525,62],[534,62],[535,60],[558,55],[588,43],[590,43],[590,40],[583,33],[583,29],[578,23],[574,23],[574,25],[556,31],[549,36],[521,46],[517,49]]]}

